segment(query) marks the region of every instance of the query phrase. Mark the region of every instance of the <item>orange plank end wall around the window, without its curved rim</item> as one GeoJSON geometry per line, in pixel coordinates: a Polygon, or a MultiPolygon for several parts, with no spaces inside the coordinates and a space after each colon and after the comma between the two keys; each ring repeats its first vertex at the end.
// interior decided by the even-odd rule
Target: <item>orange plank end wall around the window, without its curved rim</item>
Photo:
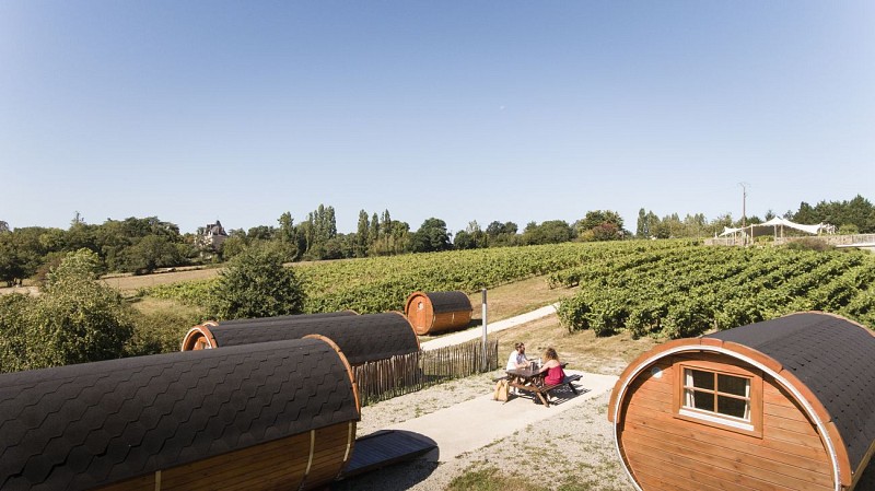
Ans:
{"type": "Polygon", "coordinates": [[[618,442],[630,471],[651,490],[831,490],[832,467],[816,426],[793,397],[762,377],[762,436],[675,416],[675,363],[699,362],[754,371],[712,353],[662,359],[629,384],[618,442]]]}

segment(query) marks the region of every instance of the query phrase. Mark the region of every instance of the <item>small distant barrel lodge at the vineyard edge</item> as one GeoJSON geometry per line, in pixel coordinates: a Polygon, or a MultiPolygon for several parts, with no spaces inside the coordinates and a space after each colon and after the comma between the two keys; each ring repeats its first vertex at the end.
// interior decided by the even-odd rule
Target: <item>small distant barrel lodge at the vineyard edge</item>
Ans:
{"type": "Polygon", "coordinates": [[[413,292],[407,296],[405,315],[420,336],[466,327],[471,322],[471,301],[464,292],[413,292]]]}

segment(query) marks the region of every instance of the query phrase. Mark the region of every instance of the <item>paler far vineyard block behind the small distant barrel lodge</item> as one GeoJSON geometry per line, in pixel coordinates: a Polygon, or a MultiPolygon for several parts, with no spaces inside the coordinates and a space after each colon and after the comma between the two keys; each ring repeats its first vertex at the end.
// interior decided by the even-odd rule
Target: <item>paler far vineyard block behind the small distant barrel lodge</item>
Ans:
{"type": "MultiPolygon", "coordinates": [[[[682,249],[689,243],[599,243],[505,247],[412,254],[295,267],[304,283],[307,313],[354,309],[362,314],[402,311],[411,292],[482,288],[594,264],[612,257],[662,249],[682,249]]],[[[141,295],[208,305],[217,279],[142,289],[141,295]]]]}

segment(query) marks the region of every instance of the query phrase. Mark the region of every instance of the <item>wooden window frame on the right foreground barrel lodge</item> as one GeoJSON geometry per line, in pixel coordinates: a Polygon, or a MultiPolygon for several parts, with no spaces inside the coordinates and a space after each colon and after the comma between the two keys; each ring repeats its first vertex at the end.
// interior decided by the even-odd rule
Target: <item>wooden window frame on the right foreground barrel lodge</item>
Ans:
{"type": "MultiPolygon", "coordinates": [[[[705,424],[713,428],[720,428],[722,430],[728,430],[749,436],[762,437],[762,373],[760,371],[746,370],[737,365],[704,360],[678,361],[675,363],[675,367],[677,369],[674,390],[674,417],[676,419],[705,424]],[[743,418],[736,418],[716,411],[708,411],[685,406],[685,378],[687,370],[696,370],[715,374],[713,394],[721,394],[718,391],[716,375],[730,375],[749,379],[750,391],[748,399],[750,405],[750,420],[746,421],[743,418]]],[[[727,394],[727,396],[738,398],[738,396],[735,395],[727,394]]]]}

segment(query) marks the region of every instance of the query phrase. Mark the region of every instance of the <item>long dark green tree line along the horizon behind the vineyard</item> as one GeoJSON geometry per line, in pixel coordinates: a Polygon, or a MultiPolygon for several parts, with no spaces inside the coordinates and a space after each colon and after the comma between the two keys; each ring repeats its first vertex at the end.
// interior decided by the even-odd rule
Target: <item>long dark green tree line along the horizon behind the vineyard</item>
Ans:
{"type": "MultiPolygon", "coordinates": [[[[767,212],[765,220],[774,217],[767,212]]],[[[806,202],[784,217],[800,223],[828,222],[842,233],[875,232],[875,207],[862,196],[850,201],[806,202]]],[[[747,224],[760,223],[758,217],[745,218],[747,224]]],[[[413,231],[409,223],[382,213],[359,212],[354,232],[337,230],[335,209],[319,204],[306,219],[295,223],[290,212],[282,213],[277,225],[259,225],[246,231],[229,231],[218,247],[205,246],[200,238],[206,232],[179,232],[173,223],[156,217],[107,220],[89,224],[77,213],[68,230],[54,227],[11,229],[0,221],[0,281],[11,285],[24,279],[45,281],[46,273],[70,252],[89,249],[98,258],[102,273],[149,273],[160,268],[223,262],[253,246],[268,245],[285,261],[342,259],[428,253],[451,249],[508,247],[557,244],[581,241],[618,241],[625,238],[707,237],[722,232],[724,226],[737,226],[726,213],[708,220],[702,213],[677,213],[657,217],[641,209],[634,232],[625,229],[616,211],[593,210],[569,223],[564,220],[529,222],[522,230],[511,221],[493,221],[482,227],[471,221],[464,230],[452,233],[446,222],[429,218],[413,231]]]]}

